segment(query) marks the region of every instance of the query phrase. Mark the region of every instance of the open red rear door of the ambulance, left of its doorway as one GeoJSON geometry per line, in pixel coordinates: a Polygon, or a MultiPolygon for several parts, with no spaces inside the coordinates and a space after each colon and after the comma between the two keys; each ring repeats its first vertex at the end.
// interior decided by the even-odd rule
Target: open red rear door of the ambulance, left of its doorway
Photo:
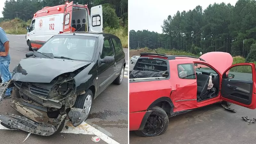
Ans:
{"type": "Polygon", "coordinates": [[[71,32],[73,1],[67,4],[64,16],[63,32],[71,32]]]}

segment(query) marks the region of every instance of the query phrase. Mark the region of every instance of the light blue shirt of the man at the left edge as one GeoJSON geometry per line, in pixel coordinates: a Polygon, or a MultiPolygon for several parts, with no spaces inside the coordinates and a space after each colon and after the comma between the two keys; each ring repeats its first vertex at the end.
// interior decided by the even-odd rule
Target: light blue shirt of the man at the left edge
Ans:
{"type": "MultiPolygon", "coordinates": [[[[4,43],[9,41],[3,28],[0,27],[0,52],[5,52],[4,43]]],[[[0,61],[11,60],[10,54],[7,56],[0,56],[0,61]]]]}

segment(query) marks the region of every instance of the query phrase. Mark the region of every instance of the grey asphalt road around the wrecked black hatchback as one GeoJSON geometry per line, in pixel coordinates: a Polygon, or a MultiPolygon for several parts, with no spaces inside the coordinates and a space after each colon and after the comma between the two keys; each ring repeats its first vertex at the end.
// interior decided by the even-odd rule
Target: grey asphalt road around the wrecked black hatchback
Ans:
{"type": "MultiPolygon", "coordinates": [[[[28,51],[25,35],[7,35],[10,40],[11,64],[12,70],[20,61],[25,58],[28,51]]],[[[128,61],[128,50],[124,49],[126,60],[128,61]]],[[[127,62],[126,61],[126,62],[127,62]]],[[[127,64],[128,65],[128,64],[127,64]]],[[[128,66],[126,69],[128,72],[128,66]]],[[[126,76],[127,77],[127,76],[126,76]]],[[[18,114],[11,107],[12,99],[3,100],[0,105],[0,114],[12,112],[18,114]]],[[[75,129],[64,127],[61,133],[57,133],[52,137],[42,137],[30,135],[25,143],[33,144],[55,144],[55,143],[95,143],[91,140],[93,136],[101,136],[104,140],[98,143],[127,143],[128,141],[128,79],[124,78],[121,85],[111,84],[104,92],[100,94],[92,105],[92,111],[88,119],[85,121],[96,130],[91,132],[89,129],[75,129]],[[74,134],[77,133],[77,134],[74,134]],[[111,141],[112,140],[112,141],[111,141]],[[110,141],[110,142],[106,142],[110,141]]],[[[87,125],[86,124],[86,125],[87,125]]],[[[21,143],[28,135],[27,132],[18,130],[3,130],[0,124],[0,143],[13,144],[21,143]]]]}

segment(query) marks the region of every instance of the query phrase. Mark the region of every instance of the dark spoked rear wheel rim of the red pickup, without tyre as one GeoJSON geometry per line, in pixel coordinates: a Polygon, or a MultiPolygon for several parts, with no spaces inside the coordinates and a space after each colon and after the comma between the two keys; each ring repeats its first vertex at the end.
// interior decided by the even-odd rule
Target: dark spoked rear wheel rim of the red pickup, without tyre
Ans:
{"type": "Polygon", "coordinates": [[[151,114],[147,119],[142,133],[148,136],[154,136],[161,133],[163,128],[162,118],[158,114],[151,114]]]}

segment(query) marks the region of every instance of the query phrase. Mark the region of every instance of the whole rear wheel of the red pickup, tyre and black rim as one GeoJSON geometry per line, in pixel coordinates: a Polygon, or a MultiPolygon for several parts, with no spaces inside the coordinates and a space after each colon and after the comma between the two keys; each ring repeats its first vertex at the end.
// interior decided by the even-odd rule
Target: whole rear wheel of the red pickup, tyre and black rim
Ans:
{"type": "Polygon", "coordinates": [[[135,131],[140,137],[161,135],[166,131],[169,125],[169,119],[164,109],[154,106],[149,110],[152,110],[152,113],[148,116],[144,129],[135,131]]]}

